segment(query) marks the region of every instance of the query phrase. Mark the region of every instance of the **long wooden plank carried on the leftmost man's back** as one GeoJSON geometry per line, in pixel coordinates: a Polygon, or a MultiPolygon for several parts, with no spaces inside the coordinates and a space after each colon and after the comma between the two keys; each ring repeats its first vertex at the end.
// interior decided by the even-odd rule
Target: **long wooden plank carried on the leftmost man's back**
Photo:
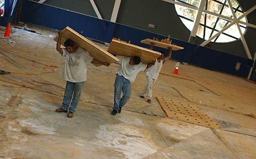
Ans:
{"type": "MultiPolygon", "coordinates": [[[[58,38],[59,36],[56,36],[54,40],[58,41],[58,38]]],[[[62,30],[61,45],[64,46],[64,42],[66,41],[66,39],[73,40],[77,46],[87,50],[90,55],[97,60],[108,63],[116,63],[119,61],[117,57],[102,49],[100,46],[96,45],[92,41],[86,39],[84,36],[80,35],[70,27],[66,27],[64,30],[62,30]]]]}

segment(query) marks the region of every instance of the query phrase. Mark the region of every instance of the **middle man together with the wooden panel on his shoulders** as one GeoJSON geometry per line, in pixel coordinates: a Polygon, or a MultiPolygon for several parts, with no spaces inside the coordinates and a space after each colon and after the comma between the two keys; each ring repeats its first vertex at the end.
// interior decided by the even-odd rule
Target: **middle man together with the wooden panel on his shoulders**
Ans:
{"type": "Polygon", "coordinates": [[[114,81],[114,107],[111,112],[111,115],[116,115],[121,113],[122,107],[128,102],[131,85],[138,73],[153,66],[155,59],[161,54],[119,39],[112,39],[108,52],[116,55],[119,59],[117,63],[120,64],[114,81]]]}

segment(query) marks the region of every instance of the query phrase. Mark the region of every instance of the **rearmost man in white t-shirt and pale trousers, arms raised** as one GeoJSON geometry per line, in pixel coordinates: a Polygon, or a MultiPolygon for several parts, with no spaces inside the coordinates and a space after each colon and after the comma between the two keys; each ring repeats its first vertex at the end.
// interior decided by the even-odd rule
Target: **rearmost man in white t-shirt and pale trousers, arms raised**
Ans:
{"type": "Polygon", "coordinates": [[[155,83],[156,79],[158,79],[159,72],[161,68],[163,67],[163,63],[171,58],[171,49],[169,49],[169,55],[164,58],[163,51],[161,52],[161,56],[158,57],[155,61],[155,65],[151,66],[148,71],[146,72],[146,77],[148,84],[147,86],[140,92],[139,96],[141,98],[145,98],[145,94],[147,93],[147,99],[146,101],[148,103],[151,103],[151,97],[152,97],[152,87],[155,83]]]}

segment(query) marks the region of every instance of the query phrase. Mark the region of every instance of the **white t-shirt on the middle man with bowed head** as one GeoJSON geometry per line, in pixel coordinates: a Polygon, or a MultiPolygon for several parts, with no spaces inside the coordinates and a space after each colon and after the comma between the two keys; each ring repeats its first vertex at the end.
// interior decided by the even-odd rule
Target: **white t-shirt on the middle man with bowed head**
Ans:
{"type": "Polygon", "coordinates": [[[116,56],[119,59],[120,66],[117,71],[117,75],[123,76],[124,78],[128,79],[130,83],[135,81],[135,78],[139,71],[144,71],[147,67],[147,64],[139,62],[138,65],[130,65],[130,57],[126,56],[116,56]]]}

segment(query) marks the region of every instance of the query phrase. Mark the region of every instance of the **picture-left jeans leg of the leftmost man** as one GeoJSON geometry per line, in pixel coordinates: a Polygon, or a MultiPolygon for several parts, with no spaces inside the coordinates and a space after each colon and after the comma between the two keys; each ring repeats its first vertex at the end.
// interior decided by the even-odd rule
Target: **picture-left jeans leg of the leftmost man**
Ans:
{"type": "Polygon", "coordinates": [[[69,81],[66,82],[65,94],[64,94],[64,98],[61,106],[61,108],[64,110],[67,110],[67,108],[69,108],[69,104],[74,91],[74,86],[75,86],[75,83],[69,82],[69,81]]]}

